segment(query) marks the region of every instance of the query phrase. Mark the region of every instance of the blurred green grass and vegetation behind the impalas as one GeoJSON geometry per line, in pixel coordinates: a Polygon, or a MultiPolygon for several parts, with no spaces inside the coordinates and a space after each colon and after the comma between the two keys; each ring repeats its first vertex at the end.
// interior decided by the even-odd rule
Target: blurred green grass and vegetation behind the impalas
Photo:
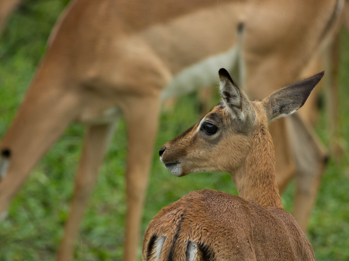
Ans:
{"type": "MultiPolygon", "coordinates": [[[[13,119],[31,77],[45,52],[46,40],[68,0],[26,0],[12,15],[0,38],[0,137],[13,119]]],[[[349,37],[342,33],[342,134],[349,140],[349,37]]],[[[218,97],[216,97],[215,102],[218,97]]],[[[179,98],[174,110],[162,112],[154,149],[142,232],[163,206],[186,193],[204,188],[237,194],[224,173],[172,176],[158,160],[158,149],[195,124],[200,104],[195,94],[179,98]]],[[[327,143],[324,112],[318,126],[327,143]]],[[[69,212],[74,172],[84,128],[72,124],[32,171],[14,198],[7,219],[0,223],[0,261],[54,260],[69,212]]],[[[75,260],[121,260],[126,210],[125,123],[119,123],[101,168],[96,189],[82,224],[75,260]]],[[[282,196],[292,211],[294,182],[282,196]]],[[[317,260],[349,260],[349,155],[342,163],[330,160],[322,178],[307,235],[317,260]]],[[[139,247],[139,252],[140,252],[139,247]]]]}

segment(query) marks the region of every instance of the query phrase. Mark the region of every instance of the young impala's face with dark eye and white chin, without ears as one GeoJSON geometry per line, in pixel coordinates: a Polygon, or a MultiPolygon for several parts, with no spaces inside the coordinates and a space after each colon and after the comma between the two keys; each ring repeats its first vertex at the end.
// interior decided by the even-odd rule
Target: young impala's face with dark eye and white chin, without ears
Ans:
{"type": "Polygon", "coordinates": [[[248,135],[236,125],[220,103],[200,122],[165,143],[159,151],[160,160],[175,176],[237,168],[236,163],[243,162],[247,154],[248,135]],[[225,160],[227,153],[236,160],[225,160]]]}

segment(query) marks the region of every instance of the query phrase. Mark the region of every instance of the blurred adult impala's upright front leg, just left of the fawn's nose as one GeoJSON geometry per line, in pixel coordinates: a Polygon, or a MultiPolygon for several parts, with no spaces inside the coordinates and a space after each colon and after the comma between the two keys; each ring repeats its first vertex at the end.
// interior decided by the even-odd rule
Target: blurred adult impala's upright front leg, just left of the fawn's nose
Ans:
{"type": "Polygon", "coordinates": [[[124,113],[127,122],[126,234],[125,261],[137,259],[140,221],[148,184],[149,166],[158,127],[159,98],[127,100],[124,113]]]}

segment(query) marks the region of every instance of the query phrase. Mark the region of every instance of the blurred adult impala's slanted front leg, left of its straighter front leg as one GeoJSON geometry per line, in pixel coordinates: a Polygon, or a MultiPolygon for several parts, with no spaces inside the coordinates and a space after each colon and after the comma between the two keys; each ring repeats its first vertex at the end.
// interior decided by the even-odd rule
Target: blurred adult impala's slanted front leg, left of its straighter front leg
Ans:
{"type": "Polygon", "coordinates": [[[114,126],[114,124],[103,124],[87,128],[79,168],[75,177],[73,201],[64,228],[64,236],[58,250],[57,261],[72,259],[84,211],[97,180],[98,168],[102,164],[108,144],[114,133],[114,126]]]}

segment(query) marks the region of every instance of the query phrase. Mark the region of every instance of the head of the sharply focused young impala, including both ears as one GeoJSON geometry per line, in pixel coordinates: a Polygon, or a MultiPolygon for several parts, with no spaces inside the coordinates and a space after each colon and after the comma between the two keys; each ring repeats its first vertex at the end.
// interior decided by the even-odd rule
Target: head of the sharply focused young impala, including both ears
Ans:
{"type": "Polygon", "coordinates": [[[260,156],[263,157],[263,150],[274,155],[268,123],[302,107],[324,75],[318,73],[278,90],[263,101],[251,102],[227,70],[220,69],[218,73],[222,102],[159,151],[160,160],[175,176],[211,171],[233,173],[243,168],[258,133],[268,136],[269,146],[259,148],[260,156]]]}

